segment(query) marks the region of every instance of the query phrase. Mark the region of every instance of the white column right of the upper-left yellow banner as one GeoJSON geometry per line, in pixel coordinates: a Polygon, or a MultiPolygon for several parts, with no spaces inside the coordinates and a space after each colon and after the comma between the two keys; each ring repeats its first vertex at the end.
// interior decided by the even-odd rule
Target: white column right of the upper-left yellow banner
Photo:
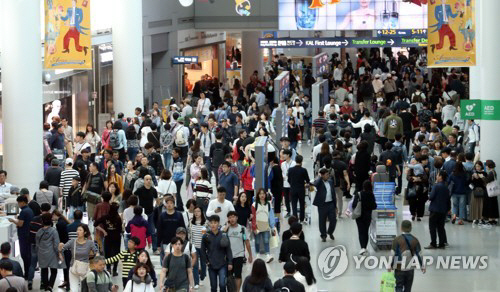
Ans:
{"type": "Polygon", "coordinates": [[[144,107],[142,1],[114,1],[113,109],[130,117],[144,107]]]}

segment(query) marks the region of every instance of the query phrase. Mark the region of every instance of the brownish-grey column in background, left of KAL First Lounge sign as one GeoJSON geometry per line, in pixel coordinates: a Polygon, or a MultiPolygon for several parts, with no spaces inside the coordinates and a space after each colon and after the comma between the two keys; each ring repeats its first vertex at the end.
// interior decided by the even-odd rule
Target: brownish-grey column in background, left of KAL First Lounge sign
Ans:
{"type": "Polygon", "coordinates": [[[242,84],[250,82],[253,71],[259,71],[259,78],[264,77],[264,54],[259,48],[260,31],[244,31],[241,34],[241,78],[242,84]]]}

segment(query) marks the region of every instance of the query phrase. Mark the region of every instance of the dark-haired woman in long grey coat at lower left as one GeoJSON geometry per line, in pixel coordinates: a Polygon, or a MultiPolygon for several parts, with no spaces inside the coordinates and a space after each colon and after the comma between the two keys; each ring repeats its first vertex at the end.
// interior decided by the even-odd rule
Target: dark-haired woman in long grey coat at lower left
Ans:
{"type": "Polygon", "coordinates": [[[52,291],[59,268],[59,235],[52,227],[52,214],[42,215],[43,227],[36,233],[36,250],[38,254],[38,265],[41,270],[40,290],[52,291]],[[49,280],[50,269],[50,280],[49,280]]]}

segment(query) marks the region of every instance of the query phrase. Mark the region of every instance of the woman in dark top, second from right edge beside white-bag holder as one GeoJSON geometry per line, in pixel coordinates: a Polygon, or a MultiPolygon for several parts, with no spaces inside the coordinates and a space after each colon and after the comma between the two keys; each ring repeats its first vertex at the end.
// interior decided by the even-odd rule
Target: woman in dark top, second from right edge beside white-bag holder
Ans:
{"type": "Polygon", "coordinates": [[[487,177],[484,171],[484,165],[481,161],[477,161],[474,164],[474,173],[472,174],[471,183],[473,185],[472,195],[470,199],[470,217],[473,220],[473,224],[479,224],[480,222],[484,224],[483,219],[483,204],[484,197],[488,196],[486,193],[486,184],[484,183],[484,178],[487,177]]]}

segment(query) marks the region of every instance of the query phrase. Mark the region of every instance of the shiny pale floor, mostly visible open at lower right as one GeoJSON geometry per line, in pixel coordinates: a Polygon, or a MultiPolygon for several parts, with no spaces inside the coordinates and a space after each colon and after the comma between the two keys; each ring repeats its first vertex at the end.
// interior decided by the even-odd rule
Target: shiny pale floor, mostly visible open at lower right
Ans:
{"type": "MultiPolygon", "coordinates": [[[[311,146],[307,144],[299,145],[299,152],[304,154],[304,167],[312,174],[312,160],[310,159],[311,146]]],[[[183,197],[185,194],[183,193],[183,197]]],[[[185,199],[185,198],[184,198],[185,199]]],[[[410,219],[407,206],[403,206],[401,198],[396,199],[398,207],[397,218],[398,224],[403,219],[410,219]]],[[[344,208],[347,206],[347,200],[344,200],[344,208]]],[[[288,228],[284,226],[283,228],[288,228]]],[[[282,230],[284,230],[282,228],[282,230]]],[[[425,250],[424,255],[432,256],[487,256],[487,268],[483,270],[446,270],[443,268],[437,269],[433,264],[428,266],[425,274],[421,271],[415,271],[412,291],[499,291],[500,278],[497,278],[500,269],[500,227],[491,229],[473,227],[471,223],[466,223],[464,226],[452,225],[446,223],[446,232],[450,246],[445,250],[425,250]]],[[[337,222],[335,230],[335,240],[330,239],[327,242],[321,242],[319,230],[317,227],[317,211],[313,208],[312,225],[304,226],[306,241],[309,244],[311,251],[311,265],[314,269],[317,280],[318,291],[335,291],[335,292],[364,292],[364,291],[380,291],[380,279],[384,268],[367,269],[366,266],[376,265],[376,259],[370,259],[368,262],[363,262],[360,269],[356,269],[356,263],[353,259],[358,255],[360,250],[357,227],[354,220],[343,217],[337,222]],[[318,268],[318,256],[328,248],[334,246],[345,246],[348,257],[347,270],[335,277],[332,280],[323,278],[320,269],[318,268]]],[[[422,245],[427,246],[430,243],[428,217],[424,217],[421,222],[413,223],[412,234],[415,235],[422,245]]],[[[252,244],[253,247],[253,244],[252,244]]],[[[372,246],[368,247],[369,254],[374,256],[387,256],[388,251],[375,251],[372,246]]],[[[268,272],[271,279],[276,281],[282,277],[282,264],[277,261],[279,249],[271,251],[275,260],[268,264],[268,272]]],[[[435,261],[437,259],[435,258],[435,261]]],[[[161,271],[159,257],[153,257],[153,264],[157,267],[156,272],[161,271]]],[[[340,265],[339,265],[340,266],[340,265]]],[[[245,265],[243,269],[243,277],[250,273],[251,265],[245,265]]],[[[335,269],[334,273],[337,272],[335,269]]],[[[36,274],[34,287],[39,287],[39,273],[36,274]]],[[[62,272],[59,272],[58,281],[62,281],[62,272]]],[[[121,283],[121,279],[116,278],[115,282],[121,283]]],[[[38,291],[38,290],[34,290],[38,291]]],[[[61,290],[62,291],[62,290],[61,290]]],[[[158,291],[158,288],[157,288],[158,291]]],[[[207,279],[203,285],[197,290],[200,292],[210,291],[210,283],[207,279]]]]}

